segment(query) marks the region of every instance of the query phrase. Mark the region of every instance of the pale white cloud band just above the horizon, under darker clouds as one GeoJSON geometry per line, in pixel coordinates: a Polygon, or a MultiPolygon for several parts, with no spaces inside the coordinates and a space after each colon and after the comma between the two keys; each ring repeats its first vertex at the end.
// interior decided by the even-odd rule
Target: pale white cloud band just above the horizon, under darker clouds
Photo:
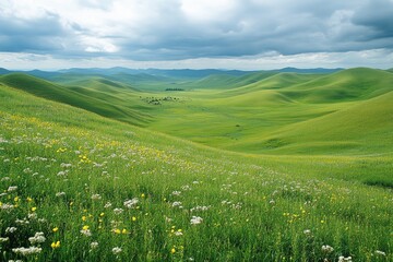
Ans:
{"type": "Polygon", "coordinates": [[[123,58],[92,57],[61,59],[49,55],[0,52],[0,64],[8,69],[20,70],[58,70],[64,68],[111,68],[127,67],[136,69],[238,69],[272,70],[285,67],[295,68],[354,68],[370,67],[392,68],[393,51],[372,49],[348,52],[310,52],[281,55],[276,52],[237,58],[193,58],[184,60],[135,61],[123,58]],[[22,67],[21,67],[22,66],[22,67]]]}

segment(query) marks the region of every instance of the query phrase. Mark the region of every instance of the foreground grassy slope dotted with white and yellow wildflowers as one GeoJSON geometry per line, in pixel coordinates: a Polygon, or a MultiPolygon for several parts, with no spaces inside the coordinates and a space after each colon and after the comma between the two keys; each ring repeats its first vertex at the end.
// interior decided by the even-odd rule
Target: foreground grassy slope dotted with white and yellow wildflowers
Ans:
{"type": "Polygon", "coordinates": [[[393,259],[389,189],[0,96],[2,261],[393,259]]]}

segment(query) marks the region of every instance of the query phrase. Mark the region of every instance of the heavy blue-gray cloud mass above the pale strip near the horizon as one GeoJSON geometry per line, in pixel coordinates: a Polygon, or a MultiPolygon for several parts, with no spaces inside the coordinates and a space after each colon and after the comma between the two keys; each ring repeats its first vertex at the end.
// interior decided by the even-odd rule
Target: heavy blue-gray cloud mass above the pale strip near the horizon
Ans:
{"type": "Polygon", "coordinates": [[[29,8],[40,15],[0,9],[0,51],[176,60],[393,49],[392,0],[39,0],[29,8]]]}

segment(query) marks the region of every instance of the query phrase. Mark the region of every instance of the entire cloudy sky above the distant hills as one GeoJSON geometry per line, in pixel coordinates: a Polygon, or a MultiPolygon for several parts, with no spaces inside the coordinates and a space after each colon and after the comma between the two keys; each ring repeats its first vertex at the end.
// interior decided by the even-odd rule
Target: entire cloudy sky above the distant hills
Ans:
{"type": "Polygon", "coordinates": [[[393,0],[0,0],[0,67],[393,68],[393,0]]]}

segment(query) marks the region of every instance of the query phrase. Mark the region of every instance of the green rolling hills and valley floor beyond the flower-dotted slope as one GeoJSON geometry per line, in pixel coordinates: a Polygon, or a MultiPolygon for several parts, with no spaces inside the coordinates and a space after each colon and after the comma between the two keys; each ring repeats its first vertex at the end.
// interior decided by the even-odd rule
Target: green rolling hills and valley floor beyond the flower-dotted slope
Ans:
{"type": "Polygon", "coordinates": [[[114,75],[67,75],[61,81],[67,85],[23,74],[1,76],[0,82],[230,151],[286,155],[392,153],[389,94],[393,91],[393,74],[382,70],[221,74],[193,82],[144,75],[146,81],[139,82],[143,91],[121,78],[110,79],[114,75]],[[174,86],[184,91],[165,92],[174,86]]]}

